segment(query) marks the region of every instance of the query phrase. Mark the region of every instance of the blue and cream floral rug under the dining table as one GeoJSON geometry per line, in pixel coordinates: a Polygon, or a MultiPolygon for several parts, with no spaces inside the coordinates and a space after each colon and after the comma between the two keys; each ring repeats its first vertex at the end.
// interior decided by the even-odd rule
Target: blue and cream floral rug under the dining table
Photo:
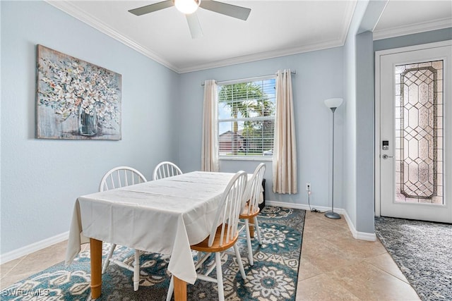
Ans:
{"type": "MultiPolygon", "coordinates": [[[[295,301],[299,259],[304,228],[304,210],[265,207],[258,216],[262,245],[254,239],[254,266],[249,266],[246,240],[239,240],[239,250],[246,273],[242,279],[237,259],[222,257],[226,300],[292,300],[295,301]]],[[[109,245],[104,243],[103,258],[109,245]]],[[[114,257],[130,264],[133,250],[117,246],[114,257]]],[[[140,287],[133,291],[133,273],[110,264],[102,275],[102,295],[97,300],[166,300],[170,275],[169,258],[145,253],[140,257],[140,287]]],[[[214,262],[214,261],[213,261],[214,262]]],[[[216,271],[212,272],[215,277],[216,271]]],[[[65,267],[61,262],[2,290],[1,300],[91,300],[90,252],[81,252],[65,267]]],[[[187,300],[218,300],[215,283],[196,281],[187,285],[187,300]]]]}

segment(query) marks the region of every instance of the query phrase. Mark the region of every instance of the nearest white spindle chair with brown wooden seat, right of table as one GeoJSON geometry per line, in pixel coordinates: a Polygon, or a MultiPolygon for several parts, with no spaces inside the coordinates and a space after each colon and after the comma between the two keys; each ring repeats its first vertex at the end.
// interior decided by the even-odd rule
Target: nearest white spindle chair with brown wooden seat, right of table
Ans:
{"type": "MultiPolygon", "coordinates": [[[[210,235],[208,235],[208,237],[202,242],[190,246],[191,250],[198,251],[198,254],[201,252],[205,253],[198,259],[198,262],[195,265],[196,269],[199,269],[206,262],[211,253],[215,253],[215,264],[212,264],[205,274],[196,274],[196,277],[203,281],[217,283],[218,300],[220,301],[225,300],[221,269],[222,252],[225,252],[230,247],[234,248],[234,253],[237,257],[237,264],[239,264],[240,274],[242,274],[242,278],[246,278],[242,258],[240,257],[239,248],[237,247],[236,242],[239,238],[239,214],[242,209],[242,199],[247,178],[248,176],[244,171],[239,171],[234,175],[234,177],[230,180],[230,183],[227,185],[225,192],[222,194],[222,199],[218,209],[216,210],[210,235]],[[209,276],[213,269],[217,270],[217,278],[209,276]]],[[[174,278],[171,277],[167,293],[167,301],[171,300],[173,290],[174,278]]]]}

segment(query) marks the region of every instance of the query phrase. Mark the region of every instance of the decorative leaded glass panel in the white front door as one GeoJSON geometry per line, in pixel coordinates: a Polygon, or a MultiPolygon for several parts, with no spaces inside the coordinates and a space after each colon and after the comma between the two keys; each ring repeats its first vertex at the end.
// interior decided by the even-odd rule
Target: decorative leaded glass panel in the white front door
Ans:
{"type": "Polygon", "coordinates": [[[396,202],[444,204],[443,65],[395,68],[396,202]]]}

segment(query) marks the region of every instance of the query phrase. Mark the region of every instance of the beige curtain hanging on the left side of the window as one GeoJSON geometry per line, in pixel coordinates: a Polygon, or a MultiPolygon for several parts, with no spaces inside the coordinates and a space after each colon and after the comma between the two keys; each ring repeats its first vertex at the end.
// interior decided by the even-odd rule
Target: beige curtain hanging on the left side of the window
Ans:
{"type": "Polygon", "coordinates": [[[204,82],[203,142],[201,149],[201,171],[219,171],[218,163],[218,106],[217,83],[204,82]]]}

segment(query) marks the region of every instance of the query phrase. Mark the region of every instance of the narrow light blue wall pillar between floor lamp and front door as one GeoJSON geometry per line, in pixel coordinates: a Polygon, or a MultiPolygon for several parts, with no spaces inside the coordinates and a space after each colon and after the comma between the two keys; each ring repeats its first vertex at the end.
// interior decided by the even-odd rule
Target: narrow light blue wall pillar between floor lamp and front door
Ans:
{"type": "Polygon", "coordinates": [[[384,1],[358,1],[344,46],[344,198],[358,236],[374,233],[374,68],[369,30],[384,6],[384,1]]]}

